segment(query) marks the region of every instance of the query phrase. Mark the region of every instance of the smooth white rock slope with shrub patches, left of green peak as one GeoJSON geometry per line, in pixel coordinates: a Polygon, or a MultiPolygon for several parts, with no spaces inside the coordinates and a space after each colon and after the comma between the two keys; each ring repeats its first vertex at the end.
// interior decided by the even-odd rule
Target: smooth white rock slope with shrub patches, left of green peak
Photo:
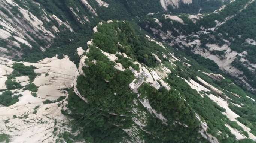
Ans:
{"type": "MultiPolygon", "coordinates": [[[[12,66],[15,63],[6,58],[1,58],[0,62],[1,90],[6,90],[5,77],[10,79],[16,71],[12,66]]],[[[76,66],[68,57],[61,60],[52,57],[38,63],[23,64],[35,66],[37,76],[33,81],[28,76],[17,76],[12,80],[20,84],[20,88],[1,91],[0,134],[8,136],[12,143],[55,142],[58,134],[70,130],[67,127],[70,119],[61,113],[60,105],[67,94],[66,89],[73,82],[76,66]],[[31,88],[31,85],[35,87],[31,88]]]]}

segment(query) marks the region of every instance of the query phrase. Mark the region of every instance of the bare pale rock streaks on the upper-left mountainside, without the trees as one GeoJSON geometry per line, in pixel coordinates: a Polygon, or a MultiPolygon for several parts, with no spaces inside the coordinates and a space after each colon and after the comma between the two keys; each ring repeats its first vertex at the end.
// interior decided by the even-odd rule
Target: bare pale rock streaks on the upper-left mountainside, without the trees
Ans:
{"type": "MultiPolygon", "coordinates": [[[[9,15],[0,12],[0,25],[4,27],[3,29],[0,29],[1,39],[6,39],[7,37],[15,35],[13,38],[15,38],[16,41],[31,47],[28,40],[34,41],[34,39],[28,35],[28,32],[33,33],[36,36],[39,36],[37,32],[43,32],[39,38],[48,42],[50,42],[52,38],[55,38],[54,34],[43,26],[44,23],[40,20],[40,18],[37,18],[35,15],[33,15],[33,13],[29,12],[27,9],[24,9],[24,7],[20,7],[15,1],[2,0],[1,3],[3,5],[2,8],[5,9],[6,12],[9,12],[9,14],[12,16],[12,18],[10,18],[9,15]],[[22,18],[19,15],[13,15],[10,10],[10,6],[16,6],[17,10],[19,10],[19,12],[22,14],[22,18]]],[[[45,14],[42,15],[42,18],[46,20],[46,22],[49,22],[49,19],[45,16],[45,14]]],[[[15,43],[16,41],[13,41],[11,45],[19,47],[19,44],[17,45],[17,43],[15,43]]]]}

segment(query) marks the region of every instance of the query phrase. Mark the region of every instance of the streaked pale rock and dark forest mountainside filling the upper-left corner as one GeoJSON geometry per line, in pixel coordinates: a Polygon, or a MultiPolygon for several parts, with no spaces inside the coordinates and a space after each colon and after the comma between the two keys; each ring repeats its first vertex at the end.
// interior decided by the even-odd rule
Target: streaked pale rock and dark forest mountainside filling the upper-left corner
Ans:
{"type": "Polygon", "coordinates": [[[82,2],[1,0],[1,57],[23,57],[36,62],[57,54],[56,47],[63,49],[58,53],[60,56],[73,56],[75,49],[68,53],[65,45],[79,41],[77,35],[90,31],[90,25],[95,22],[91,6],[82,2]],[[42,54],[44,51],[46,55],[42,54]]]}

